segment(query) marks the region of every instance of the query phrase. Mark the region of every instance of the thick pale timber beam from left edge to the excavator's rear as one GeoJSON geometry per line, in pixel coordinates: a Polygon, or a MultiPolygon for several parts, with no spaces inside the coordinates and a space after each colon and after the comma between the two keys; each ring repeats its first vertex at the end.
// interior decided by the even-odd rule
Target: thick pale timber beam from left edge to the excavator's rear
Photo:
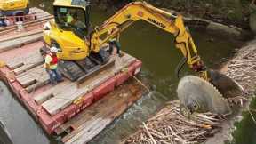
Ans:
{"type": "Polygon", "coordinates": [[[10,41],[4,41],[0,43],[0,52],[5,52],[12,50],[14,48],[18,48],[24,44],[30,44],[36,41],[41,40],[43,37],[43,33],[32,35],[32,36],[24,36],[17,39],[13,39],[10,41]]]}

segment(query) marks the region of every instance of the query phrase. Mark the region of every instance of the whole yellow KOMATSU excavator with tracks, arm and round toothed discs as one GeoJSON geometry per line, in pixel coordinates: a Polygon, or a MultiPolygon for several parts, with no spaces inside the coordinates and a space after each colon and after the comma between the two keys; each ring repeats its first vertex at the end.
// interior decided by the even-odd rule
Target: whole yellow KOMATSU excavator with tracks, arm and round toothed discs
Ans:
{"type": "Polygon", "coordinates": [[[183,77],[180,81],[177,92],[182,114],[188,116],[195,111],[212,111],[224,115],[230,112],[222,94],[230,96],[229,90],[240,92],[241,89],[228,76],[204,66],[180,14],[166,12],[146,2],[133,2],[125,5],[100,27],[91,28],[88,0],[55,0],[53,8],[55,19],[44,26],[44,42],[48,46],[40,52],[44,55],[52,45],[57,47],[60,71],[71,81],[97,71],[99,65],[104,65],[109,59],[108,48],[104,46],[109,39],[134,22],[145,20],[173,34],[175,46],[184,56],[182,65],[187,62],[188,67],[199,74],[183,77]],[[109,30],[116,28],[108,35],[109,30]]]}

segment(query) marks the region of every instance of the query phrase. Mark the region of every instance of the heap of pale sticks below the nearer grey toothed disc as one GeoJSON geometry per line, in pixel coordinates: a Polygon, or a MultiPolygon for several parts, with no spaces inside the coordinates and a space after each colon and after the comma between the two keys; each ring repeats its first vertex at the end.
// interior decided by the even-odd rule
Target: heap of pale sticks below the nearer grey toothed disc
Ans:
{"type": "Polygon", "coordinates": [[[179,101],[171,101],[147,124],[125,140],[125,144],[200,143],[220,132],[224,119],[212,113],[194,114],[190,119],[180,115],[179,101]]]}

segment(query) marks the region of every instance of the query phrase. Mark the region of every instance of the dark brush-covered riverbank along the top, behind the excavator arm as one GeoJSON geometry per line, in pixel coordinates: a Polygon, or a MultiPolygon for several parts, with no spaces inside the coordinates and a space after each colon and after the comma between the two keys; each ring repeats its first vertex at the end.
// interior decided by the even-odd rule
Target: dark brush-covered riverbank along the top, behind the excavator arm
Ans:
{"type": "MultiPolygon", "coordinates": [[[[116,12],[125,4],[135,0],[95,0],[92,2],[107,12],[116,12]]],[[[249,28],[251,0],[146,0],[157,7],[175,10],[185,15],[196,16],[206,20],[233,25],[243,29],[249,28]]]]}

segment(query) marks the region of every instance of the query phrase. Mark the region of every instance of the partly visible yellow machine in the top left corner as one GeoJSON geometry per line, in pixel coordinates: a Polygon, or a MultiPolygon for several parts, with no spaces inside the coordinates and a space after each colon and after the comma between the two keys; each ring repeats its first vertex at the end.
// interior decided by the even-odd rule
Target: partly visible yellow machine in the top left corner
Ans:
{"type": "Polygon", "coordinates": [[[1,16],[20,16],[29,12],[28,0],[0,0],[1,16]]]}

